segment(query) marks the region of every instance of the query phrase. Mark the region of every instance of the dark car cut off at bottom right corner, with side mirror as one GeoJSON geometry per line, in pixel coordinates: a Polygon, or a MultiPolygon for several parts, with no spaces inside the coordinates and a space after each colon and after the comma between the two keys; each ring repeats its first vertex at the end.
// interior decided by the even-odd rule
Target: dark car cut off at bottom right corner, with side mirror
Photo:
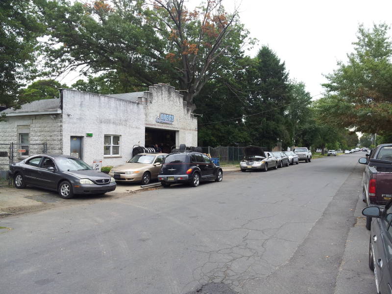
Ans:
{"type": "Polygon", "coordinates": [[[369,268],[374,271],[377,293],[392,293],[392,200],[385,208],[368,206],[362,214],[373,218],[369,241],[369,268]]]}

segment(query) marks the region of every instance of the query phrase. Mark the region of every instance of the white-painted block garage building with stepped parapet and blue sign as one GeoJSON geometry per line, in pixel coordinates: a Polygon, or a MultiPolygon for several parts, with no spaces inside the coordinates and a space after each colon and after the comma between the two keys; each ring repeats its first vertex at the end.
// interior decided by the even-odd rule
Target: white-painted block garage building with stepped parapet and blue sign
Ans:
{"type": "Polygon", "coordinates": [[[131,157],[135,145],[158,144],[164,152],[172,146],[197,146],[197,119],[183,96],[169,85],[150,86],[148,91],[115,95],[61,89],[59,99],[6,109],[0,122],[0,143],[47,143],[48,153],[81,158],[92,165],[119,165],[131,157]]]}

